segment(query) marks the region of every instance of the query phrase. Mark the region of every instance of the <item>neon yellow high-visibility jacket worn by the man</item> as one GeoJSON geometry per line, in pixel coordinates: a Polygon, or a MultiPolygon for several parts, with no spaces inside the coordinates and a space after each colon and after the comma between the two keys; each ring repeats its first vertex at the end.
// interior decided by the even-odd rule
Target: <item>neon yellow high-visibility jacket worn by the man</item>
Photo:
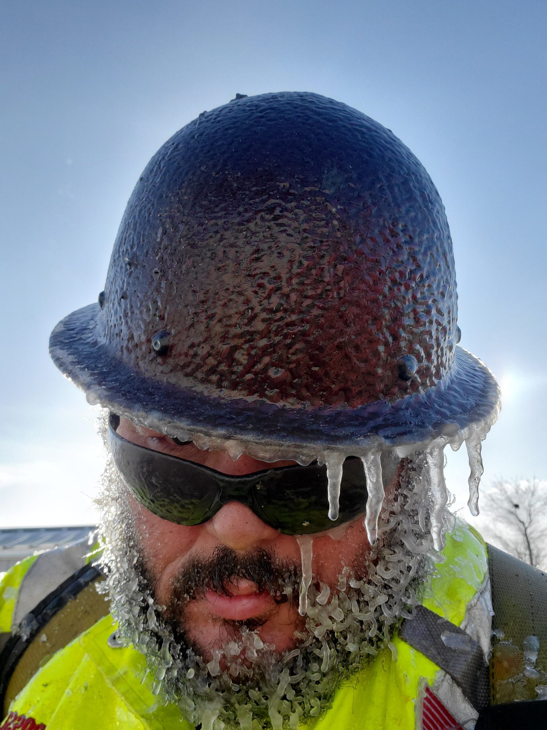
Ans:
{"type": "MultiPolygon", "coordinates": [[[[424,606],[456,626],[467,626],[489,642],[490,611],[486,545],[465,523],[447,536],[445,560],[436,566],[424,606]]],[[[0,583],[0,631],[9,631],[18,587],[34,558],[14,566],[0,583]]],[[[144,680],[146,660],[131,648],[111,648],[111,615],[59,650],[39,669],[9,707],[0,728],[35,730],[190,730],[176,706],[163,706],[144,680]],[[32,721],[30,720],[32,718],[32,721]]],[[[481,639],[482,637],[482,639],[481,639]]],[[[487,656],[488,647],[484,647],[487,656]]],[[[450,677],[418,650],[395,636],[342,685],[333,706],[310,730],[414,730],[422,727],[429,689],[457,720],[473,727],[477,713],[450,677]]],[[[424,723],[424,726],[427,723],[424,723]]],[[[434,727],[435,725],[428,725],[434,727]]],[[[445,725],[446,726],[446,725],[445,725]]]]}

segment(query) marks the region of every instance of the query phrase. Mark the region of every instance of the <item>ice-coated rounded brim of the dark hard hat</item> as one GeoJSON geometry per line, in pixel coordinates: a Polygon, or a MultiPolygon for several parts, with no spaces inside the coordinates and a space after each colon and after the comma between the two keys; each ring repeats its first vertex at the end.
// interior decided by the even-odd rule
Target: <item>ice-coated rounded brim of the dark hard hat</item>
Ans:
{"type": "Polygon", "coordinates": [[[151,380],[133,371],[104,341],[101,308],[90,304],[61,320],[50,337],[58,369],[88,401],[170,436],[361,453],[383,447],[424,445],[473,426],[489,430],[500,410],[500,389],[478,358],[456,347],[449,375],[424,393],[361,407],[289,407],[263,399],[228,397],[202,385],[151,380]]]}

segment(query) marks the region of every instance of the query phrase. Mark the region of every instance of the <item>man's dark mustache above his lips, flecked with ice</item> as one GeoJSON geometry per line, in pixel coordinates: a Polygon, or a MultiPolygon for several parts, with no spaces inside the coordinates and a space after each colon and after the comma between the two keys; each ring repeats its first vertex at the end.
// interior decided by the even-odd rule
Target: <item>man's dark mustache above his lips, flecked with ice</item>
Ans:
{"type": "Polygon", "coordinates": [[[287,586],[298,586],[300,568],[276,558],[263,548],[241,555],[233,548],[220,545],[210,557],[195,556],[182,567],[174,578],[170,603],[200,599],[206,591],[229,596],[230,584],[238,579],[255,583],[259,593],[268,591],[274,601],[284,603],[287,602],[287,594],[283,591],[287,586]]]}

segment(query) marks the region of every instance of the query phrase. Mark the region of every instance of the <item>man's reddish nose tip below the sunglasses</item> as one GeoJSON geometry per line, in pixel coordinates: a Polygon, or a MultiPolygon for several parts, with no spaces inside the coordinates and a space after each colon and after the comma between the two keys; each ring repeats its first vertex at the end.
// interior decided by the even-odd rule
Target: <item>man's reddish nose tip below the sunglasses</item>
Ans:
{"type": "Polygon", "coordinates": [[[251,550],[279,536],[277,530],[240,502],[228,502],[206,524],[218,542],[233,550],[251,550]]]}

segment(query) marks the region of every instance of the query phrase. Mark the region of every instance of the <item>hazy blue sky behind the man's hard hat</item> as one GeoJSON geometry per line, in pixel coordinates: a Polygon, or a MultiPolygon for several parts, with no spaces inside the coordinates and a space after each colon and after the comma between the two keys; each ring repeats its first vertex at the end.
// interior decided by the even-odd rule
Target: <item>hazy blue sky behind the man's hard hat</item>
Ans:
{"type": "Polygon", "coordinates": [[[93,410],[47,340],[104,288],[151,155],[236,93],[332,96],[414,151],[449,217],[461,344],[503,389],[484,480],[547,478],[545,28],[543,0],[3,3],[0,526],[95,519],[93,410]]]}

